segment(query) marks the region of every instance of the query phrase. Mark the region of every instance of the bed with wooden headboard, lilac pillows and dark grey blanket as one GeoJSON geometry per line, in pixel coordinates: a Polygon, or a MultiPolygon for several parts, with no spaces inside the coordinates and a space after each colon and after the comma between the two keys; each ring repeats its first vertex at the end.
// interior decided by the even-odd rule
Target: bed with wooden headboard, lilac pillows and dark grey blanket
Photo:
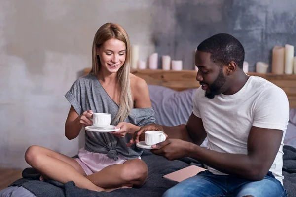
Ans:
{"type": "MultiPolygon", "coordinates": [[[[89,69],[85,72],[88,73],[89,69]]],[[[199,86],[195,80],[196,72],[163,70],[133,70],[132,72],[147,81],[152,107],[158,124],[174,126],[186,123],[192,112],[193,94],[199,86]]],[[[296,108],[296,79],[283,76],[265,76],[267,79],[268,77],[270,81],[274,80],[275,84],[280,84],[289,97],[290,120],[284,139],[284,143],[289,146],[285,146],[284,157],[287,157],[287,161],[293,162],[292,164],[289,163],[289,165],[296,166],[296,149],[294,149],[296,148],[296,109],[294,109],[296,108]],[[282,81],[286,82],[283,83],[282,81]]],[[[207,146],[207,140],[204,141],[202,146],[207,146]]],[[[39,197],[42,194],[44,196],[44,193],[48,197],[128,197],[131,194],[132,196],[141,197],[160,197],[167,189],[177,184],[177,182],[162,178],[164,174],[192,164],[202,166],[198,161],[190,158],[167,161],[165,158],[153,155],[149,151],[144,151],[141,157],[148,165],[148,178],[145,185],[140,189],[119,189],[111,193],[96,193],[79,189],[74,186],[73,182],[68,182],[65,185],[55,181],[40,182],[37,180],[38,173],[32,168],[28,168],[23,172],[25,178],[0,191],[0,197],[39,197]]],[[[285,163],[284,167],[286,167],[285,163]]],[[[286,168],[287,171],[291,169],[291,167],[286,168]]],[[[284,185],[289,196],[296,196],[296,193],[294,193],[296,191],[296,170],[292,171],[294,173],[290,172],[284,174],[284,185]]]]}

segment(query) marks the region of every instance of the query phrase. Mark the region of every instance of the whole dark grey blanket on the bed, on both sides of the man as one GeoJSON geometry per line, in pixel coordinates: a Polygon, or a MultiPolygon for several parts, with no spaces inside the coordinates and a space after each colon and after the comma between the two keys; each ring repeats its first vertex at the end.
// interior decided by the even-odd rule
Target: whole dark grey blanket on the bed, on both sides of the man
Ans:
{"type": "MultiPolygon", "coordinates": [[[[287,190],[288,197],[296,197],[296,149],[291,146],[284,146],[283,151],[284,187],[287,190]]],[[[38,181],[40,174],[33,168],[25,169],[23,171],[24,178],[15,181],[10,186],[23,186],[37,197],[128,197],[131,195],[135,197],[161,197],[167,189],[177,184],[175,181],[162,178],[163,175],[184,168],[189,164],[200,165],[191,158],[168,161],[148,151],[144,151],[141,157],[148,165],[148,178],[139,189],[118,189],[110,193],[93,192],[76,187],[73,181],[66,184],[57,181],[41,182],[38,181]]]]}

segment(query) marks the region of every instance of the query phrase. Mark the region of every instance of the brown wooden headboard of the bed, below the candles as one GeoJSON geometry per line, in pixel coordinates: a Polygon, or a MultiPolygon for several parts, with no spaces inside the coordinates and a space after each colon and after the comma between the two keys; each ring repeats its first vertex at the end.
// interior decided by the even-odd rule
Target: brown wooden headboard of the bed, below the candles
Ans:
{"type": "MultiPolygon", "coordinates": [[[[91,68],[84,69],[84,74],[89,73],[91,68]]],[[[131,73],[144,79],[147,84],[159,85],[171,88],[173,90],[182,91],[188,88],[199,87],[196,81],[195,70],[131,70],[131,73]]],[[[282,88],[288,96],[290,108],[296,108],[296,74],[294,75],[275,75],[271,73],[259,74],[249,72],[248,75],[262,77],[275,85],[282,88]]]]}

